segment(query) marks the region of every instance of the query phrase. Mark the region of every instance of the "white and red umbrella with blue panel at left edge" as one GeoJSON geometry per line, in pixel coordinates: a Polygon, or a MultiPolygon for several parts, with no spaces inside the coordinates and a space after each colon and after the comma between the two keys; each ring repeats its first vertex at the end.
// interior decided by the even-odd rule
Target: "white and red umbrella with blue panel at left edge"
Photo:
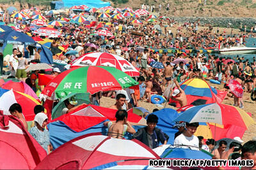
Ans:
{"type": "Polygon", "coordinates": [[[36,105],[40,104],[34,97],[22,92],[16,92],[15,90],[0,88],[0,110],[3,110],[4,114],[8,114],[9,108],[13,103],[20,104],[26,121],[34,120],[34,108],[36,105]]]}

